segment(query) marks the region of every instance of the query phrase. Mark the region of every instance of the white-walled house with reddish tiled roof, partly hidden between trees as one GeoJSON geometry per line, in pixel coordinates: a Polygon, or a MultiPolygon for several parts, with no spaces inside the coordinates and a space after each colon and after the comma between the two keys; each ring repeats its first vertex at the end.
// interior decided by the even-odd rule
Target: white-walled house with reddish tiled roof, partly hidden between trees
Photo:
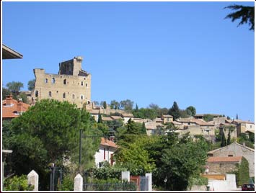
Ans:
{"type": "Polygon", "coordinates": [[[113,153],[117,151],[118,145],[112,140],[107,138],[101,138],[99,151],[95,153],[95,164],[97,167],[101,167],[102,164],[107,161],[112,166],[115,161],[113,159],[113,153]]]}

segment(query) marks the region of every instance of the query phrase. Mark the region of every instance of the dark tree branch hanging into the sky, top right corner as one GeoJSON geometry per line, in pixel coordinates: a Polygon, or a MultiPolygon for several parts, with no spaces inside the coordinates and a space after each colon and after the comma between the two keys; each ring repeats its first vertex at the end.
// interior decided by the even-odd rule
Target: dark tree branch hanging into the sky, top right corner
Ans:
{"type": "Polygon", "coordinates": [[[231,19],[234,22],[237,19],[241,19],[237,27],[241,24],[249,22],[250,30],[255,30],[255,7],[254,6],[242,6],[242,5],[230,5],[226,6],[225,9],[237,10],[228,14],[225,19],[231,19]]]}

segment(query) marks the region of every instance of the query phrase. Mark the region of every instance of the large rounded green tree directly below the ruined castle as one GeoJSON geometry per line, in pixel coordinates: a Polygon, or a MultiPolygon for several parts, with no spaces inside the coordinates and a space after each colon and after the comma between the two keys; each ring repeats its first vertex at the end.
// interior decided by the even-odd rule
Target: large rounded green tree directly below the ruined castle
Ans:
{"type": "MultiPolygon", "coordinates": [[[[89,112],[77,109],[75,104],[43,99],[12,120],[11,134],[6,136],[12,139],[7,146],[13,150],[9,164],[15,174],[28,174],[37,169],[40,184],[48,183],[45,179],[48,163],[63,166],[69,159],[74,166],[78,165],[79,130],[83,135],[100,134],[91,129],[91,123],[89,112]]],[[[83,169],[93,166],[99,145],[100,138],[82,138],[83,169]]],[[[45,186],[42,189],[45,190],[45,186]]]]}

